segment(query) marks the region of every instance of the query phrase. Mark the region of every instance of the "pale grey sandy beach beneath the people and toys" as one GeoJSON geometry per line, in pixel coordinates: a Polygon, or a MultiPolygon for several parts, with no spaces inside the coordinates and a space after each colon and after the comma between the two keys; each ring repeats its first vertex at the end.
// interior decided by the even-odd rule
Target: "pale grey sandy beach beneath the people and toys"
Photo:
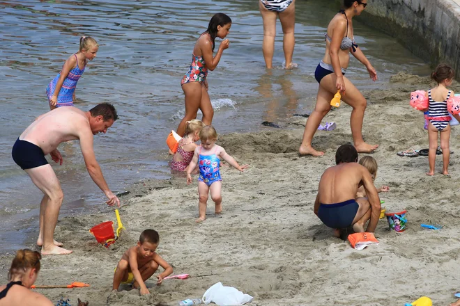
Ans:
{"type": "MultiPolygon", "coordinates": [[[[460,291],[460,225],[457,206],[460,177],[460,133],[452,128],[450,176],[427,177],[427,156],[397,156],[398,151],[428,147],[421,112],[408,104],[413,90],[431,88],[428,78],[397,74],[385,90],[363,92],[368,100],[363,134],[377,143],[376,186],[383,207],[406,209],[406,232],[390,232],[381,219],[376,230],[379,245],[353,250],[348,241],[332,237],[332,230],[316,218],[313,204],[319,178],[335,164],[335,150],[351,142],[351,107],[342,103],[324,122],[336,122],[334,131],[318,131],[313,145],[325,156],[298,156],[306,118],[293,117],[287,126],[259,133],[228,134],[218,143],[239,163],[244,173],[222,168],[223,213],[215,216],[208,201],[207,220],[197,224],[197,177],[187,186],[185,177],[139,182],[121,197],[123,233],[110,248],[98,245],[89,229],[115,214],[102,207],[89,216],[60,218],[55,238],[73,250],[68,256],[43,257],[36,284],[86,282],[82,289],[40,289],[56,303],[61,297],[88,300],[99,305],[176,305],[185,298],[201,297],[222,282],[254,297],[248,305],[404,305],[429,296],[434,305],[449,305],[460,291]],[[426,230],[421,223],[439,223],[442,230],[426,230]],[[151,294],[123,287],[112,293],[114,268],[123,252],[134,245],[146,228],[160,233],[158,253],[174,267],[174,274],[189,273],[187,280],[146,282],[151,294]]],[[[459,83],[452,90],[460,92],[459,83]]],[[[364,154],[360,154],[363,156],[364,154]]],[[[164,159],[169,159],[166,154],[164,159]]],[[[33,245],[29,245],[33,247],[33,245]]],[[[12,255],[0,258],[0,278],[6,275],[12,255]]],[[[158,272],[157,272],[158,273],[158,272]]]]}

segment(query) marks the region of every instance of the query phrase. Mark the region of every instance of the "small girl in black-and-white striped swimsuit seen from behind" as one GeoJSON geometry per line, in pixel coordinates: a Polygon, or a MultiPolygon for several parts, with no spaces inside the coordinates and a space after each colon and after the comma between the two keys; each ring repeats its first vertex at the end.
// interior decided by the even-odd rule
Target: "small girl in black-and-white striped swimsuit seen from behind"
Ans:
{"type": "MultiPolygon", "coordinates": [[[[448,175],[447,166],[449,166],[450,149],[450,124],[451,120],[447,111],[447,99],[454,96],[452,90],[448,90],[447,86],[452,85],[454,79],[454,70],[445,64],[440,64],[436,70],[431,73],[431,79],[438,83],[438,86],[428,90],[428,140],[429,140],[429,172],[427,175],[434,175],[434,163],[436,161],[436,150],[438,149],[438,132],[440,133],[440,145],[443,150],[443,174],[448,175]]],[[[454,115],[459,120],[459,115],[454,115]]]]}

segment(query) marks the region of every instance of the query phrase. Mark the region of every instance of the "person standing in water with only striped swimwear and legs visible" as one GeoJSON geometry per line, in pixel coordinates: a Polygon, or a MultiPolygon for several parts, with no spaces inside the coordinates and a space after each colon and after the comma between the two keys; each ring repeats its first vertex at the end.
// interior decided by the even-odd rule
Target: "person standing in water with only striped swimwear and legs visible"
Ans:
{"type": "Polygon", "coordinates": [[[265,65],[272,69],[273,49],[275,49],[276,19],[279,17],[283,28],[283,51],[286,69],[296,67],[292,63],[294,53],[294,24],[296,22],[296,0],[259,0],[259,10],[263,19],[262,52],[265,65]]]}

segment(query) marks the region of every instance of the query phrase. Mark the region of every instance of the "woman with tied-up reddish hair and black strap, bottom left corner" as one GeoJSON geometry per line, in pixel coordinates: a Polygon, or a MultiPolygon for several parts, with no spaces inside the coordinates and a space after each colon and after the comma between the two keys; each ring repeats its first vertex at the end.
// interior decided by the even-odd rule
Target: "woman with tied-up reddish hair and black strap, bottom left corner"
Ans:
{"type": "Polygon", "coordinates": [[[24,249],[16,252],[8,273],[10,282],[0,286],[0,306],[54,306],[45,296],[30,290],[37,280],[41,258],[37,251],[24,249]]]}

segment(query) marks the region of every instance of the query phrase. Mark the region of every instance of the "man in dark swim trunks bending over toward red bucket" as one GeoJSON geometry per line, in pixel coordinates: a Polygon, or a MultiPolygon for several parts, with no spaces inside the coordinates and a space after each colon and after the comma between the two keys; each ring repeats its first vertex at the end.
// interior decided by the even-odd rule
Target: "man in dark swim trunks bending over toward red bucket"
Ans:
{"type": "Polygon", "coordinates": [[[13,146],[13,159],[44,194],[40,203],[40,234],[37,240],[37,245],[42,247],[42,255],[72,252],[60,248],[62,243],[53,239],[64,195],[45,155],[51,155],[53,161],[62,165],[58,145],[78,139],[91,179],[109,199],[106,203],[109,206],[117,204],[119,207],[120,200],[107,186],[93,150],[93,136],[105,133],[117,118],[114,106],[108,103],[98,104],[86,112],[73,106],[59,107],[40,115],[17,138],[13,146]]]}

